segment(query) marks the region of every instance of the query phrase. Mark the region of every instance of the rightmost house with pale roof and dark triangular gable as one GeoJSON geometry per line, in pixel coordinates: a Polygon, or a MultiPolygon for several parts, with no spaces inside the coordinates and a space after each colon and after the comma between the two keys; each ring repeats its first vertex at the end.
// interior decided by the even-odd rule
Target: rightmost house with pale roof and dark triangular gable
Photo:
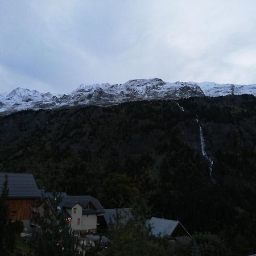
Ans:
{"type": "Polygon", "coordinates": [[[148,224],[151,226],[151,233],[153,236],[172,236],[172,237],[189,237],[191,235],[187,232],[179,221],[166,220],[164,218],[152,217],[148,224]]]}

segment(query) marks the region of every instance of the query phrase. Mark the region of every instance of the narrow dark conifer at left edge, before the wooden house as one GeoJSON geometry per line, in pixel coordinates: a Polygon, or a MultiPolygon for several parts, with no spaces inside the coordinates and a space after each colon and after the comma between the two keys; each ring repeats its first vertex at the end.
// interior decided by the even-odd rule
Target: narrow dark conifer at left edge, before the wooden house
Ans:
{"type": "Polygon", "coordinates": [[[8,256],[14,251],[15,232],[9,220],[9,208],[6,199],[9,195],[7,175],[3,182],[2,193],[0,196],[0,256],[8,256]]]}

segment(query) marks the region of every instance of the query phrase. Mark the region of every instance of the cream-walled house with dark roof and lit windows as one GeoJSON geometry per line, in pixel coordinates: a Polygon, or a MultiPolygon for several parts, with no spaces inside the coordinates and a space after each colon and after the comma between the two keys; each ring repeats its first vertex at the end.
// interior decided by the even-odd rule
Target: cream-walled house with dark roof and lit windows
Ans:
{"type": "Polygon", "coordinates": [[[81,234],[96,233],[98,216],[105,212],[100,202],[92,196],[63,197],[59,209],[67,214],[71,228],[81,234]]]}

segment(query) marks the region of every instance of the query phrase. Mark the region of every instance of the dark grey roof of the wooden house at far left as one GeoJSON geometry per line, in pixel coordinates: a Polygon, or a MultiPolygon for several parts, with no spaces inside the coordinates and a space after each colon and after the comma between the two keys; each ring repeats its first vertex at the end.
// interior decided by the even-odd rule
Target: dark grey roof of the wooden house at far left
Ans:
{"type": "Polygon", "coordinates": [[[0,193],[2,193],[5,175],[7,175],[9,198],[22,199],[40,197],[39,189],[36,186],[35,179],[32,174],[0,172],[0,193]]]}

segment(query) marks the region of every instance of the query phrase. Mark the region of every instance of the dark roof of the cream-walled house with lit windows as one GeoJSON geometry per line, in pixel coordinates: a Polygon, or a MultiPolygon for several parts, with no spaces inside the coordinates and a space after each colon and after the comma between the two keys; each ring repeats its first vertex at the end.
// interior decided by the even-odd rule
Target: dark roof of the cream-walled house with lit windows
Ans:
{"type": "Polygon", "coordinates": [[[104,209],[100,202],[92,196],[67,196],[63,197],[59,207],[72,208],[75,204],[80,204],[82,208],[86,207],[88,203],[91,203],[95,209],[83,209],[82,214],[101,214],[104,213],[104,209]]]}

